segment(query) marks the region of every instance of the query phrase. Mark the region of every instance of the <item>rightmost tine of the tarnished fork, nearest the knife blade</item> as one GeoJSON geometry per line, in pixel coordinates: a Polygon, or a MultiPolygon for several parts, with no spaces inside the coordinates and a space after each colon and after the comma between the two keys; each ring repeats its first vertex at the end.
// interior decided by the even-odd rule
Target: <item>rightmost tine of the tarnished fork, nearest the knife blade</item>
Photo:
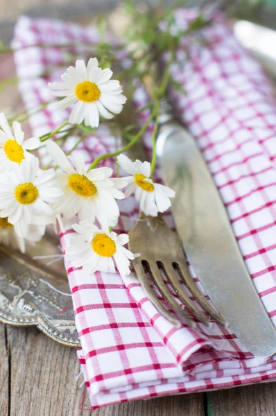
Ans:
{"type": "Polygon", "coordinates": [[[209,304],[206,297],[202,295],[198,287],[196,286],[196,283],[193,281],[193,277],[191,277],[191,274],[187,268],[187,265],[184,263],[176,263],[178,265],[178,272],[180,274],[181,279],[184,281],[184,284],[186,284],[187,288],[191,292],[191,294],[196,298],[198,304],[202,306],[202,308],[209,313],[216,322],[223,325],[223,327],[227,326],[226,321],[223,319],[220,313],[214,309],[214,307],[209,304]]]}

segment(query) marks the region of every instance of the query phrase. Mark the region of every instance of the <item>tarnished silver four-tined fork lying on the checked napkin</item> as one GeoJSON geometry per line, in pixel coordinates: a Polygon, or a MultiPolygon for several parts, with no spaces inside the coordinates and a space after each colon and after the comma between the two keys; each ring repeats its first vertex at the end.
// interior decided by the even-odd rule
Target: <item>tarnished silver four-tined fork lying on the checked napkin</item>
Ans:
{"type": "MultiPolygon", "coordinates": [[[[168,121],[168,117],[171,116],[171,106],[169,103],[163,100],[161,104],[160,126],[162,126],[162,123],[168,121]]],[[[135,122],[134,116],[135,109],[132,107],[131,101],[128,100],[122,116],[119,117],[121,127],[128,125],[130,121],[135,122]]],[[[130,148],[128,154],[132,159],[146,159],[141,141],[130,148]]],[[[187,322],[191,327],[196,326],[196,322],[194,322],[189,316],[189,313],[176,300],[176,297],[178,297],[182,304],[187,306],[187,309],[200,322],[209,324],[209,316],[211,316],[216,322],[225,326],[225,320],[221,314],[209,304],[193,281],[193,277],[191,277],[187,268],[182,242],[178,234],[173,232],[164,223],[162,216],[150,217],[140,212],[137,224],[130,230],[129,237],[129,249],[132,252],[141,254],[132,261],[137,277],[150,300],[167,320],[177,327],[181,326],[180,321],[187,322]],[[175,291],[174,295],[164,281],[163,273],[173,287],[175,291]],[[176,319],[173,313],[158,299],[152,285],[150,285],[148,275],[151,283],[155,284],[166,303],[173,309],[180,320],[176,319]],[[207,315],[200,311],[198,306],[191,300],[182,285],[183,282],[207,315]]]]}

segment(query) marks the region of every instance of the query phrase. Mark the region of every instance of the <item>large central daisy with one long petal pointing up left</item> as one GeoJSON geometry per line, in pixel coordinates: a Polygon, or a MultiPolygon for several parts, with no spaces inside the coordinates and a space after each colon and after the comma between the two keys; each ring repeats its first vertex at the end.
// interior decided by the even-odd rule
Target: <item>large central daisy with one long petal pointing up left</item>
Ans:
{"type": "Polygon", "coordinates": [[[54,141],[47,142],[46,146],[53,161],[64,171],[58,173],[58,186],[62,187],[64,196],[53,205],[55,212],[63,214],[64,218],[78,214],[79,220],[94,223],[97,219],[102,227],[114,227],[119,218],[115,198],[125,198],[119,189],[126,187],[128,182],[111,178],[111,168],[87,171],[83,155],[77,153],[67,157],[54,141]]]}

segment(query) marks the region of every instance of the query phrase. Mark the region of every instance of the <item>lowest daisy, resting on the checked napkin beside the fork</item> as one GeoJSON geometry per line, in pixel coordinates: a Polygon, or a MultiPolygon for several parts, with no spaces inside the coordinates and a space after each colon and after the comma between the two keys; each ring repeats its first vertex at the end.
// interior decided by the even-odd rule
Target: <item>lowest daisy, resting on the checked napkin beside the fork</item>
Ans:
{"type": "Polygon", "coordinates": [[[130,260],[137,255],[123,247],[128,243],[128,234],[104,231],[87,221],[72,227],[78,234],[72,237],[65,259],[74,267],[82,267],[91,274],[96,271],[114,273],[116,268],[121,277],[130,274],[130,260]]]}

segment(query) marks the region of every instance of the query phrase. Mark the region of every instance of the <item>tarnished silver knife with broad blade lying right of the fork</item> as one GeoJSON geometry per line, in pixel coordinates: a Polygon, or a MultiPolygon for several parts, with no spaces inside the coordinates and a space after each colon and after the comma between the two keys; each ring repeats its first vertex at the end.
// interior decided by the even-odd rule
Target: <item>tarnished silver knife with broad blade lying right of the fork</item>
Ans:
{"type": "MultiPolygon", "coordinates": [[[[276,330],[259,298],[227,211],[196,141],[162,103],[157,155],[184,252],[200,283],[245,349],[276,353],[276,330]]],[[[275,237],[276,238],[276,237],[275,237]]]]}

